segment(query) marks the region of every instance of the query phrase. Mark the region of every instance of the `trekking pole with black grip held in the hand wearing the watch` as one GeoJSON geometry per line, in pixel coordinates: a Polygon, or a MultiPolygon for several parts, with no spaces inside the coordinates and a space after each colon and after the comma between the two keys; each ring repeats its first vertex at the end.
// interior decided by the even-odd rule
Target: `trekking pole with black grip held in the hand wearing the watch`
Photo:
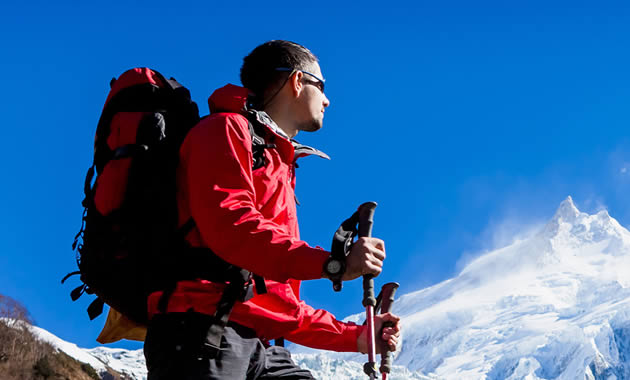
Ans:
{"type": "MultiPolygon", "coordinates": [[[[372,224],[374,223],[374,209],[376,202],[366,202],[359,206],[359,237],[372,237],[372,224]]],[[[368,362],[363,365],[363,372],[370,376],[370,380],[376,379],[376,345],[374,341],[374,276],[363,276],[363,306],[365,306],[365,318],[368,329],[368,362]]]]}

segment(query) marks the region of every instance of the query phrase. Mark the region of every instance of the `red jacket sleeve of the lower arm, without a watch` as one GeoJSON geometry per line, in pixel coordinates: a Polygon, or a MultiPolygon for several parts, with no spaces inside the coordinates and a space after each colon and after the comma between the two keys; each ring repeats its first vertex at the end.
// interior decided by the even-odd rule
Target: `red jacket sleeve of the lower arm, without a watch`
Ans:
{"type": "Polygon", "coordinates": [[[303,346],[338,352],[357,352],[357,340],[365,329],[352,322],[346,323],[321,309],[313,309],[301,302],[303,319],[300,327],[285,338],[303,346]]]}

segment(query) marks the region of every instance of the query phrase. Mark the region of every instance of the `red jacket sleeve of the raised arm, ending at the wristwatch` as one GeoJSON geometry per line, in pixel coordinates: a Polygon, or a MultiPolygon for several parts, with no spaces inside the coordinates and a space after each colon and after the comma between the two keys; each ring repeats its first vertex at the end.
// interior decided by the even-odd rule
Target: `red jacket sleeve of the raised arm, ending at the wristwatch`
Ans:
{"type": "Polygon", "coordinates": [[[291,236],[256,209],[252,140],[244,117],[207,118],[181,149],[191,215],[215,254],[279,282],[321,278],[328,252],[291,236]]]}

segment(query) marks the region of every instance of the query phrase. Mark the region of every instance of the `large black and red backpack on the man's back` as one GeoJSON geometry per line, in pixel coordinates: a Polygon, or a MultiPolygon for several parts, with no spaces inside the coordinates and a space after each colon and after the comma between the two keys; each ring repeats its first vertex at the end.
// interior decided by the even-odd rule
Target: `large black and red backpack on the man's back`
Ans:
{"type": "MultiPolygon", "coordinates": [[[[164,291],[160,305],[165,308],[177,281],[229,282],[216,315],[225,325],[234,302],[252,296],[252,274],[208,249],[188,247],[184,237],[194,227],[192,219],[177,225],[178,151],[199,121],[197,105],[185,87],[148,68],[128,70],[110,85],[85,179],[82,226],[73,243],[79,271],[62,283],[80,274],[83,284],[71,292],[72,300],[96,294],[90,319],[107,303],[146,324],[147,298],[154,291],[164,291]]],[[[256,168],[272,146],[261,137],[261,125],[248,119],[256,168]]],[[[256,283],[263,293],[264,281],[256,283]]]]}

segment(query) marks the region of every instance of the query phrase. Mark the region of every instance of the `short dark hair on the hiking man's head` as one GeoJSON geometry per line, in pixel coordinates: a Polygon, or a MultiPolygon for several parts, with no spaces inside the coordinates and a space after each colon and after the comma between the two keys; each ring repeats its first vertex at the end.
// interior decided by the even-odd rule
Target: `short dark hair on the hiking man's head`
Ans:
{"type": "Polygon", "coordinates": [[[241,83],[262,100],[267,90],[286,79],[287,73],[276,71],[277,68],[309,70],[317,61],[317,57],[310,50],[295,42],[284,40],[265,42],[243,58],[241,83]]]}

